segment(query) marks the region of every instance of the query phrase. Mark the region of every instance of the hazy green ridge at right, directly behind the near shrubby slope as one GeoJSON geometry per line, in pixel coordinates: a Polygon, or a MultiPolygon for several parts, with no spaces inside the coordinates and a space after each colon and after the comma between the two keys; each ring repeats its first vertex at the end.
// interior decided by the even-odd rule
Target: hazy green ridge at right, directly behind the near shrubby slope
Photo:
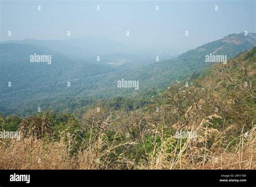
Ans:
{"type": "Polygon", "coordinates": [[[143,83],[142,89],[164,88],[175,80],[199,76],[204,68],[211,64],[205,62],[206,55],[227,55],[227,59],[230,59],[254,46],[256,46],[256,33],[230,34],[223,39],[187,51],[176,59],[164,60],[143,67],[131,76],[138,78],[143,83]]]}

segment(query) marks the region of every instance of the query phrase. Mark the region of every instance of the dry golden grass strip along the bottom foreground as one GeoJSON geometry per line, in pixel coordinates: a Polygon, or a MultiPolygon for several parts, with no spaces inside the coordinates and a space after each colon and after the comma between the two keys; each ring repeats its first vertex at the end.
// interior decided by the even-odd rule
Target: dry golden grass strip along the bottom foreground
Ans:
{"type": "MultiPolygon", "coordinates": [[[[109,155],[117,147],[133,146],[134,142],[122,145],[105,146],[102,133],[91,146],[78,150],[76,155],[70,155],[71,144],[61,138],[60,141],[23,138],[21,140],[2,140],[0,145],[1,169],[256,169],[255,127],[245,138],[244,134],[226,143],[225,132],[219,132],[201,123],[196,130],[198,139],[189,138],[185,142],[177,141],[174,136],[164,138],[161,128],[155,128],[156,138],[161,138],[161,144],[153,141],[154,149],[140,157],[139,162],[129,159],[125,154],[117,155],[114,162],[109,161],[109,155]],[[207,146],[211,136],[214,142],[207,146]],[[237,143],[233,144],[232,142],[237,143]],[[176,144],[175,144],[176,142],[176,144]],[[232,145],[232,146],[231,146],[232,145]],[[170,151],[170,146],[172,150],[170,151]]],[[[226,131],[229,131],[228,129],[226,131]]],[[[212,141],[212,140],[211,140],[212,141]]]]}

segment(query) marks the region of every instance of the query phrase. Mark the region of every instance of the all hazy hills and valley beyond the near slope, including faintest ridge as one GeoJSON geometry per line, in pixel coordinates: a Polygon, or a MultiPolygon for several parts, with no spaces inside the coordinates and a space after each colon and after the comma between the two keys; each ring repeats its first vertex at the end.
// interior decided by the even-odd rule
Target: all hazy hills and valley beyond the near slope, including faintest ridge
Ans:
{"type": "Polygon", "coordinates": [[[142,60],[137,49],[105,39],[2,42],[0,113],[25,116],[36,113],[39,106],[43,110],[51,107],[59,112],[71,112],[82,110],[88,104],[88,98],[151,95],[174,81],[200,76],[211,64],[205,62],[206,55],[226,55],[230,59],[254,46],[255,33],[230,34],[171,60],[158,62],[154,55],[152,60],[142,60]],[[51,64],[31,63],[30,56],[34,54],[51,55],[51,64]],[[132,56],[132,61],[111,66],[96,63],[97,54],[108,56],[105,62],[111,62],[111,54],[118,54],[113,59],[119,59],[122,54],[125,54],[122,59],[132,56]],[[118,89],[117,81],[122,79],[139,81],[139,90],[118,89]],[[9,82],[11,86],[8,86],[9,82]],[[86,102],[75,106],[77,99],[85,99],[86,102]]]}

